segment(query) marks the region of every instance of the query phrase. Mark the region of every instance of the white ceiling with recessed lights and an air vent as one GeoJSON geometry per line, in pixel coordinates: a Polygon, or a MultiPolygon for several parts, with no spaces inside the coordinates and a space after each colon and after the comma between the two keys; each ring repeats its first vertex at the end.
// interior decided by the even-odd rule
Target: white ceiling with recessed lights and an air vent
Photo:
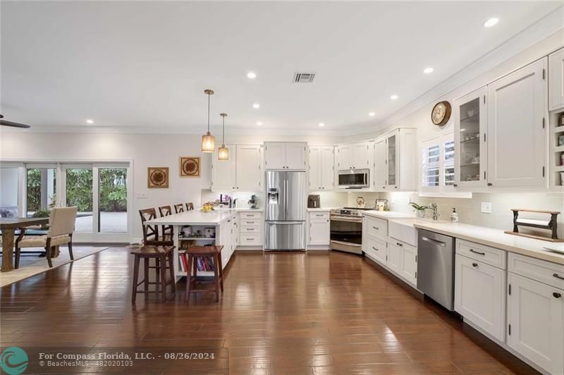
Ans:
{"type": "Polygon", "coordinates": [[[202,133],[211,88],[215,131],[226,112],[228,131],[353,133],[561,5],[1,1],[1,113],[35,129],[202,133]],[[317,76],[298,85],[295,71],[317,76]]]}

